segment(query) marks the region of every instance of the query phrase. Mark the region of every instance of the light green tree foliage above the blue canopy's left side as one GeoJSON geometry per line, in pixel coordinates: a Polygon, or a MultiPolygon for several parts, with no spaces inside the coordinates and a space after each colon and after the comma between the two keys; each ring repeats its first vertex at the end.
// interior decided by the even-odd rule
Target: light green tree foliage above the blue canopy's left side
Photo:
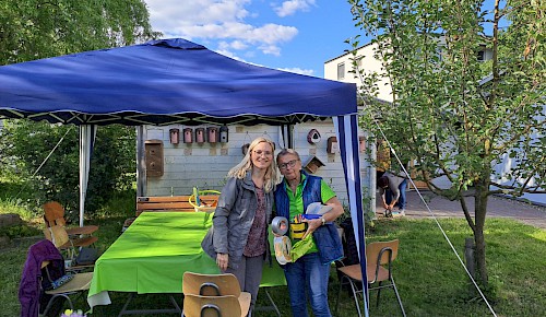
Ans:
{"type": "Polygon", "coordinates": [[[142,0],[3,0],[0,64],[156,37],[142,0]]]}

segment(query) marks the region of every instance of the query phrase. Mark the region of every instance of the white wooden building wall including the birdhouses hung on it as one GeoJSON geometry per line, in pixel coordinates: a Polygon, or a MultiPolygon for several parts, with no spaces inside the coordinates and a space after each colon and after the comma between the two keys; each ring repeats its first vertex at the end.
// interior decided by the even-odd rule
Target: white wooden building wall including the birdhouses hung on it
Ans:
{"type": "MultiPolygon", "coordinates": [[[[258,137],[265,137],[275,142],[275,155],[281,149],[287,148],[280,127],[228,126],[227,142],[219,142],[219,139],[210,142],[206,136],[210,128],[219,130],[221,127],[144,126],[143,136],[140,137],[143,151],[139,162],[145,166],[145,172],[139,175],[139,183],[142,184],[139,195],[191,195],[193,187],[200,190],[221,190],[227,172],[242,160],[245,144],[258,137]],[[173,131],[178,133],[178,140],[171,139],[173,131]],[[201,132],[205,136],[198,140],[201,132]],[[192,136],[191,143],[185,142],[185,137],[189,133],[192,136]]],[[[360,132],[359,136],[363,153],[366,143],[364,133],[360,132]]],[[[295,125],[294,149],[300,154],[302,165],[307,165],[307,172],[323,177],[342,203],[347,204],[345,176],[332,120],[295,125]]],[[[360,158],[363,179],[367,177],[364,164],[366,162],[360,158]]]]}

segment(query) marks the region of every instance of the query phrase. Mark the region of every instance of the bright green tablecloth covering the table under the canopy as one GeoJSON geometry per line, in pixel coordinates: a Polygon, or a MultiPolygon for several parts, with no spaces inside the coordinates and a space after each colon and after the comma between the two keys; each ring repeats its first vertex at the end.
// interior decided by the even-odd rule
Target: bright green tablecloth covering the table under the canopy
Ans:
{"type": "MultiPolygon", "coordinates": [[[[181,293],[185,271],[218,273],[201,248],[211,225],[212,214],[204,212],[142,213],[96,261],[88,297],[104,291],[181,293]]],[[[286,285],[274,257],[261,285],[286,285]]]]}

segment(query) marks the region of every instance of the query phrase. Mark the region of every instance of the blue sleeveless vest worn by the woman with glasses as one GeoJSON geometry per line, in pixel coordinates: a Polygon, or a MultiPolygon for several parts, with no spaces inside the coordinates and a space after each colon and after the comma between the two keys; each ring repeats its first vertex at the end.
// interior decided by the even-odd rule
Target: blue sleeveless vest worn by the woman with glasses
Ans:
{"type": "MultiPolygon", "coordinates": [[[[304,180],[304,211],[312,202],[322,202],[321,198],[321,177],[312,176],[301,171],[306,176],[304,180]]],[[[286,192],[285,181],[277,185],[275,190],[275,210],[276,215],[290,219],[290,199],[286,192]]],[[[314,244],[319,249],[320,261],[323,265],[329,265],[332,261],[343,258],[343,246],[340,239],[337,228],[333,223],[327,223],[319,226],[313,233],[314,244]]]]}

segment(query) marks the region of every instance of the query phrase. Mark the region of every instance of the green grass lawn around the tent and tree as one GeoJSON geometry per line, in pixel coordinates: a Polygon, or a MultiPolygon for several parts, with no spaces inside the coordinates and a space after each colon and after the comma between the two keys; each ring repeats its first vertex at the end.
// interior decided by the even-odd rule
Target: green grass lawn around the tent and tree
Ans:
{"type": "MultiPolygon", "coordinates": [[[[7,210],[24,214],[24,206],[10,207],[11,201],[0,200],[0,213],[7,210]]],[[[97,248],[104,251],[119,236],[124,219],[134,210],[134,192],[129,191],[112,200],[87,224],[100,226],[96,233],[97,248]]],[[[25,216],[25,220],[26,216],[25,216]]],[[[464,239],[472,236],[462,219],[441,220],[442,227],[464,258],[464,239]]],[[[43,224],[29,223],[31,226],[43,224]]],[[[543,316],[546,307],[546,231],[506,219],[489,219],[486,224],[487,260],[491,292],[489,303],[498,316],[543,316]]],[[[15,239],[0,251],[0,316],[17,316],[19,281],[26,259],[27,248],[41,236],[15,239]]],[[[468,292],[468,279],[459,260],[430,220],[395,219],[380,220],[367,232],[367,240],[401,240],[399,258],[394,262],[394,278],[407,316],[490,316],[487,306],[468,292]]],[[[330,282],[330,306],[337,298],[339,283],[335,269],[330,282]]],[[[289,300],[285,286],[271,287],[269,293],[281,309],[282,316],[290,316],[289,300]]],[[[341,293],[340,313],[334,316],[356,316],[354,301],[348,292],[341,293]]],[[[116,316],[127,294],[112,293],[112,304],[97,306],[93,316],[116,316]]],[[[370,316],[400,316],[400,308],[392,291],[381,293],[379,307],[376,294],[370,294],[370,316]]],[[[175,295],[180,303],[181,295],[175,295]]],[[[166,306],[165,295],[139,295],[132,308],[150,305],[166,306]],[[154,304],[151,304],[154,303],[154,304]]],[[[260,291],[258,306],[266,305],[268,298],[260,291]]],[[[82,301],[76,308],[87,307],[82,301]]],[[[149,315],[152,316],[152,315],[149,315]]],[[[158,316],[158,315],[157,315],[158,316]]],[[[171,315],[174,316],[174,315],[171,315]]],[[[258,312],[254,316],[275,316],[271,312],[258,312]]]]}

